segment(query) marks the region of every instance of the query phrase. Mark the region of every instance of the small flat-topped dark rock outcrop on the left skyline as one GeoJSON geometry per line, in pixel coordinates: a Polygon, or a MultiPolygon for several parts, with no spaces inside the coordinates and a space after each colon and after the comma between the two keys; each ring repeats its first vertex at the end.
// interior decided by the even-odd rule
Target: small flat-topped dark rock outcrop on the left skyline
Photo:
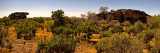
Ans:
{"type": "Polygon", "coordinates": [[[14,12],[11,13],[8,17],[13,20],[13,19],[25,19],[27,18],[27,15],[29,15],[29,13],[27,12],[14,12]]]}

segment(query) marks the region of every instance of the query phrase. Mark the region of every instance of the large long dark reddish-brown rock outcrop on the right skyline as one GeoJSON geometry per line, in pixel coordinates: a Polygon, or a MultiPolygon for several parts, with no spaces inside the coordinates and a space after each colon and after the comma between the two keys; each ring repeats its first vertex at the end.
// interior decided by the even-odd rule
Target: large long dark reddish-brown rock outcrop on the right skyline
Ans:
{"type": "Polygon", "coordinates": [[[140,20],[146,23],[146,17],[149,16],[143,11],[132,9],[119,9],[117,11],[102,12],[97,15],[101,19],[105,20],[118,20],[119,22],[130,21],[132,24],[140,20]]]}

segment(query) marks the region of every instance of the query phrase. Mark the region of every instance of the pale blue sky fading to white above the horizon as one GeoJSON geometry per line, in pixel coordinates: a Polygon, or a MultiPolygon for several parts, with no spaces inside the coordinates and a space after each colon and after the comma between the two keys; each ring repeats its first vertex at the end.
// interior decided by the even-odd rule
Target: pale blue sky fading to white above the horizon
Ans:
{"type": "Polygon", "coordinates": [[[62,9],[66,16],[99,12],[101,6],[114,9],[135,9],[149,15],[160,14],[160,0],[0,0],[0,18],[14,12],[28,12],[28,17],[50,17],[51,11],[62,9]]]}

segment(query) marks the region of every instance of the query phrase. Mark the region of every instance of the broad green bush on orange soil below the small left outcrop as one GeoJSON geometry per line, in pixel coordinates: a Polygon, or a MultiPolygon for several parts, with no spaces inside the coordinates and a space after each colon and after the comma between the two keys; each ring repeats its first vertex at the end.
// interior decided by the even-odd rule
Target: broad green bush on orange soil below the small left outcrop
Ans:
{"type": "Polygon", "coordinates": [[[17,23],[14,26],[17,33],[17,38],[24,37],[24,39],[27,40],[35,36],[39,24],[31,20],[26,20],[25,22],[17,23]]]}

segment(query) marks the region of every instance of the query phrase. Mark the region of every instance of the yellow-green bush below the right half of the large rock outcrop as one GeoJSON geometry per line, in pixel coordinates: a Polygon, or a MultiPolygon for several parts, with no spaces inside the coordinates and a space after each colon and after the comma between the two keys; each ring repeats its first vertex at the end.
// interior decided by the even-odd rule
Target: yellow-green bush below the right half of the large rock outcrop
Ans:
{"type": "Polygon", "coordinates": [[[126,28],[126,32],[128,33],[140,33],[142,32],[144,29],[146,29],[146,25],[143,24],[141,21],[137,21],[134,25],[126,28]]]}

